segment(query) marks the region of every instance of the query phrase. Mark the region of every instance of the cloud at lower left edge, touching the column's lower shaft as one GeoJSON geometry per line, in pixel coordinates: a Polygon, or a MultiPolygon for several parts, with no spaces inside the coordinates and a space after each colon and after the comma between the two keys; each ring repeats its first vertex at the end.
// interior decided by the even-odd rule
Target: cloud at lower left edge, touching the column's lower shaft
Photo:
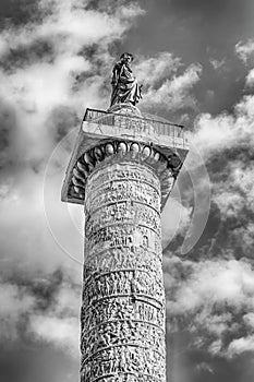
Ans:
{"type": "Polygon", "coordinates": [[[80,284],[55,273],[29,282],[1,280],[0,293],[1,343],[12,345],[25,335],[77,355],[80,284]]]}

